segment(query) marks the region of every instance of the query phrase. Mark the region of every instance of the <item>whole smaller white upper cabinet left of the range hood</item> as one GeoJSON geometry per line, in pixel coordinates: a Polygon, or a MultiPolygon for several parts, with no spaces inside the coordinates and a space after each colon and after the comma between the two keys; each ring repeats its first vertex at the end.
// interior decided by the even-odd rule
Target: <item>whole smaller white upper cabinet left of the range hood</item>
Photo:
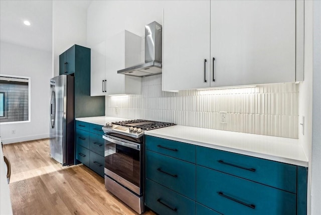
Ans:
{"type": "Polygon", "coordinates": [[[91,49],[91,95],[140,94],[141,78],[118,74],[141,63],[141,37],[123,31],[91,49]]]}

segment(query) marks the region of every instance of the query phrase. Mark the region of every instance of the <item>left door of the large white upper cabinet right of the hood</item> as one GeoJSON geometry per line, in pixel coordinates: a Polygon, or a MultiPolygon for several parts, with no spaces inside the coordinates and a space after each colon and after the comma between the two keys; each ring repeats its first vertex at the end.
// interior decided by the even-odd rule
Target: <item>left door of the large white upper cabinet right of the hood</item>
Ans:
{"type": "Polygon", "coordinates": [[[210,1],[171,1],[163,43],[163,90],[210,86],[210,1]]]}

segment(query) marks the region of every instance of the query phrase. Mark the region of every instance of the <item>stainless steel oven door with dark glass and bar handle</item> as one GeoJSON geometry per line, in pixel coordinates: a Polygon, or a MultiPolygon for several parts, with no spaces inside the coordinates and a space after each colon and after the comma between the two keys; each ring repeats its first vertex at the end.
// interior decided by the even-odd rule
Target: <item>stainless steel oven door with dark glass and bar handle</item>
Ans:
{"type": "Polygon", "coordinates": [[[104,135],[105,174],[137,195],[141,189],[141,150],[140,144],[104,135]]]}

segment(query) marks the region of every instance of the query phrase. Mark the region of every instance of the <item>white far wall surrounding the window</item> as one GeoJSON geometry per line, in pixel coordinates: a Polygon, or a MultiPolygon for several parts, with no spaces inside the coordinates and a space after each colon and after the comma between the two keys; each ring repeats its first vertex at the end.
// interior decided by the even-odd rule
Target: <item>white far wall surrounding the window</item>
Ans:
{"type": "Polygon", "coordinates": [[[31,122],[1,124],[3,143],[48,138],[51,52],[1,42],[0,71],[6,75],[31,77],[31,122]],[[12,134],[12,130],[16,130],[16,134],[12,134]]]}

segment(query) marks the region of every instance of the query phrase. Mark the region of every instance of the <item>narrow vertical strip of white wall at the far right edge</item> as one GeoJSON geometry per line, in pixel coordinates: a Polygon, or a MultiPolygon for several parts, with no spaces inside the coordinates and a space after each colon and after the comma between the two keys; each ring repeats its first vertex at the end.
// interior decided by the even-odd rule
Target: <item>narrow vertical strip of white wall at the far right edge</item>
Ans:
{"type": "Polygon", "coordinates": [[[311,214],[321,214],[321,1],[313,2],[311,214]]]}

